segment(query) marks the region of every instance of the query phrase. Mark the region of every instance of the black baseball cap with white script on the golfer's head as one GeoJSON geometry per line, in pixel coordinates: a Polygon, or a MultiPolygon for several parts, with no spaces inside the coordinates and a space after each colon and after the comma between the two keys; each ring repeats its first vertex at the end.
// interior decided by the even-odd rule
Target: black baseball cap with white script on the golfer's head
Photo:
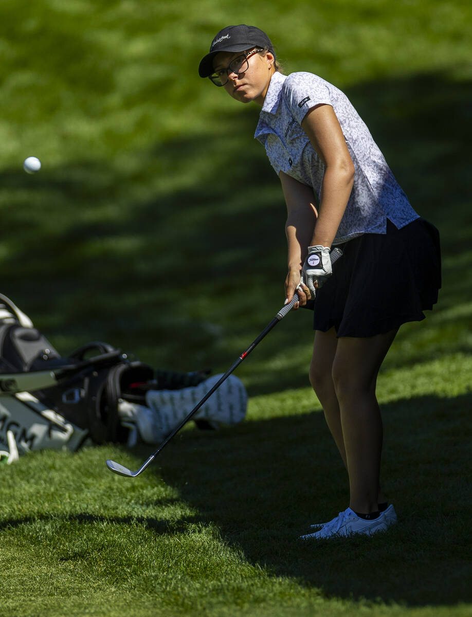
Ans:
{"type": "Polygon", "coordinates": [[[200,77],[209,77],[213,73],[213,58],[221,51],[246,51],[252,47],[268,48],[274,54],[274,48],[267,34],[255,26],[226,26],[215,36],[209,53],[202,59],[198,73],[200,77]]]}

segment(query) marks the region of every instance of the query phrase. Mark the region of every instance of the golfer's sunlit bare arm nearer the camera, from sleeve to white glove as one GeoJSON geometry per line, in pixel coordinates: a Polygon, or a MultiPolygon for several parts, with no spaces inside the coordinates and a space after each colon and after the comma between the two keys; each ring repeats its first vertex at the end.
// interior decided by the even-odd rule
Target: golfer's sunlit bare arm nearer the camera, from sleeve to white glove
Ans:
{"type": "Polygon", "coordinates": [[[310,109],[302,128],[325,165],[317,225],[308,246],[331,247],[352,191],[354,164],[333,107],[310,109]]]}

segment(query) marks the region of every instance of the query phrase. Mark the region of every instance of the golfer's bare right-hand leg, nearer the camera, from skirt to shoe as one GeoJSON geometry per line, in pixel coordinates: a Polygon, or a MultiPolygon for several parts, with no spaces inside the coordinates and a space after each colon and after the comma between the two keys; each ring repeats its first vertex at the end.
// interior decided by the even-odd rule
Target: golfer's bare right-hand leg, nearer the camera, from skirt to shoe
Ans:
{"type": "Polygon", "coordinates": [[[379,368],[396,330],[366,338],[337,339],[333,384],[339,403],[350,485],[350,507],[378,509],[383,425],[375,395],[379,368]]]}

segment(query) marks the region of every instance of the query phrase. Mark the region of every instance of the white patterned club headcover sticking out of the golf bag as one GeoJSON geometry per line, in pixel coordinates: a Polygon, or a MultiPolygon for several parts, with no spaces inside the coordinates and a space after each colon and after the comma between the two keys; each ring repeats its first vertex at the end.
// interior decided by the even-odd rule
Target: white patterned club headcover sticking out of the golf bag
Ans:
{"type": "MultiPolygon", "coordinates": [[[[130,429],[128,445],[138,441],[158,444],[181,423],[222,375],[212,375],[196,386],[180,390],[149,390],[143,404],[121,400],[122,426],[130,429]]],[[[246,416],[247,392],[241,379],[230,375],[193,416],[199,428],[238,424],[246,416]]]]}

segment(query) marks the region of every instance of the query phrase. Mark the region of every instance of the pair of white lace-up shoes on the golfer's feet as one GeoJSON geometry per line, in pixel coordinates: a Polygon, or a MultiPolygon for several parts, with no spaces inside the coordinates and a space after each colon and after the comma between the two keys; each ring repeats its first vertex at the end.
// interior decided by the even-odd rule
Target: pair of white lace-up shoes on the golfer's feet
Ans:
{"type": "Polygon", "coordinates": [[[395,523],[397,515],[394,507],[390,505],[387,510],[381,513],[378,518],[373,520],[365,520],[360,518],[350,508],[346,508],[344,512],[333,518],[333,520],[325,523],[321,529],[306,536],[300,536],[301,540],[311,540],[313,538],[329,538],[339,536],[352,536],[354,534],[365,534],[371,536],[379,531],[385,531],[389,526],[395,523]],[[388,512],[387,516],[386,513],[388,512]]]}

